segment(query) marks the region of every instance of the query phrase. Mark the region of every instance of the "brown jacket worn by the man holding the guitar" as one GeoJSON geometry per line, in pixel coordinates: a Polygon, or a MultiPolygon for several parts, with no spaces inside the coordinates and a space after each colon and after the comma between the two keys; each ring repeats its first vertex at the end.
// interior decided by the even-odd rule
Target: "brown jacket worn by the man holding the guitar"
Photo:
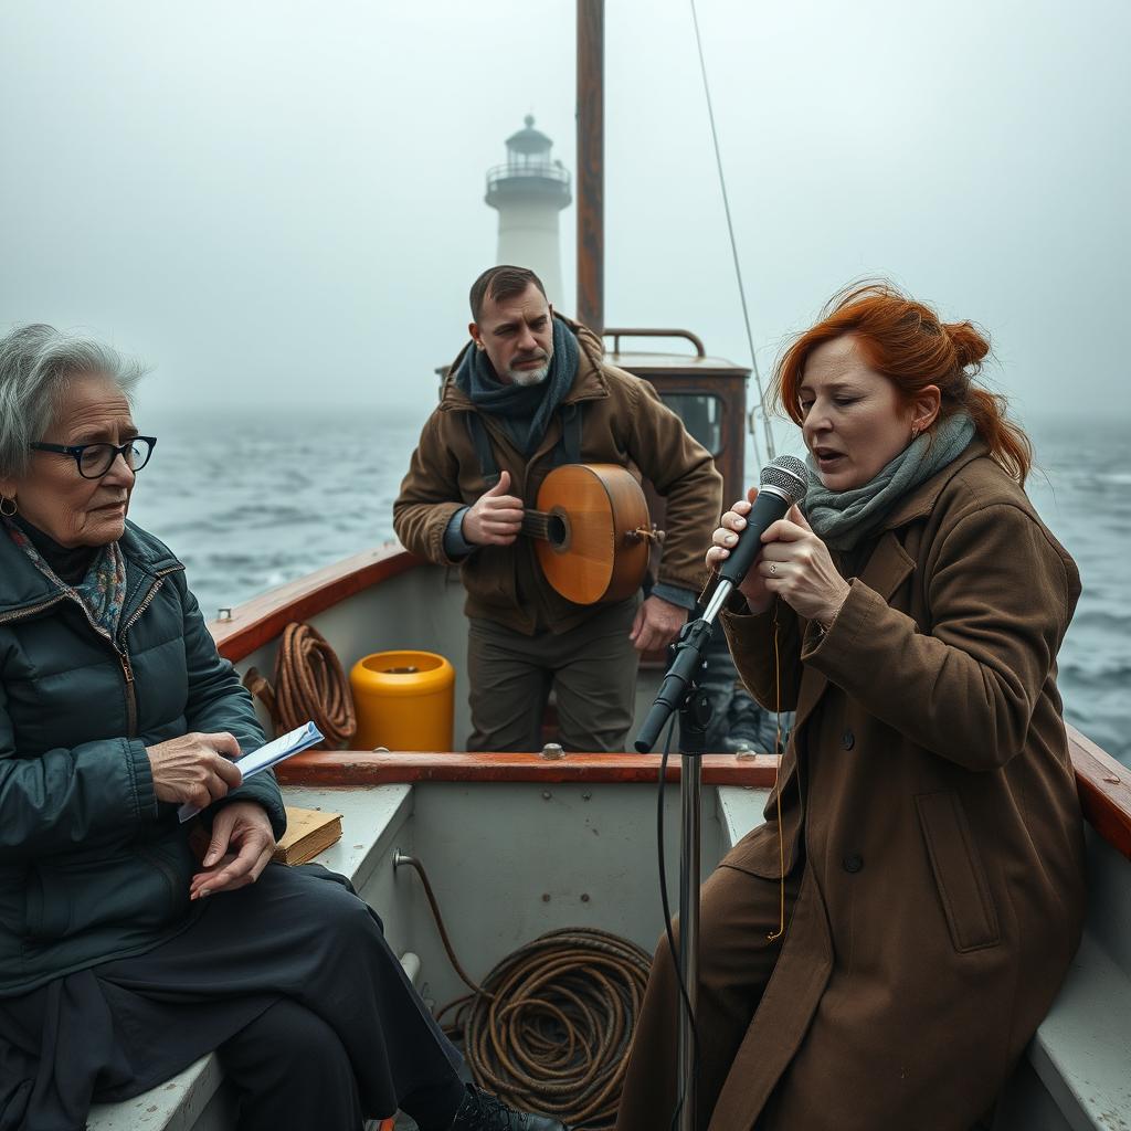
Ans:
{"type": "MultiPolygon", "coordinates": [[[[606,364],[601,339],[584,326],[564,321],[580,347],[577,377],[562,404],[585,405],[581,460],[619,464],[638,480],[650,480],[666,497],[667,537],[657,580],[698,592],[705,573],[703,546],[722,512],[723,477],[710,452],[691,438],[647,381],[606,364]]],[[[478,409],[470,399],[449,379],[439,406],[424,424],[392,506],[392,525],[402,544],[442,566],[454,564],[443,551],[451,516],[486,490],[467,429],[467,414],[475,412],[478,409]]],[[[559,414],[529,458],[519,454],[494,417],[489,413],[480,416],[500,470],[510,472],[510,493],[534,507],[542,481],[553,469],[554,448],[561,437],[559,414]]],[[[534,632],[538,621],[564,632],[599,608],[577,605],[552,589],[537,568],[528,538],[520,537],[510,546],[483,546],[459,564],[468,616],[519,632],[534,632]]]]}

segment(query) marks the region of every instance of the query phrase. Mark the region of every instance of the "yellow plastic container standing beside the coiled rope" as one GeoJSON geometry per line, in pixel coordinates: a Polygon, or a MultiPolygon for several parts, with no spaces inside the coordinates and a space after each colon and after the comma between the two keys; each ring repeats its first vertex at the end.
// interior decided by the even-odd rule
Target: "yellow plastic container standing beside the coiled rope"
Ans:
{"type": "Polygon", "coordinates": [[[357,750],[451,750],[456,670],[433,651],[375,651],[349,672],[357,750]]]}

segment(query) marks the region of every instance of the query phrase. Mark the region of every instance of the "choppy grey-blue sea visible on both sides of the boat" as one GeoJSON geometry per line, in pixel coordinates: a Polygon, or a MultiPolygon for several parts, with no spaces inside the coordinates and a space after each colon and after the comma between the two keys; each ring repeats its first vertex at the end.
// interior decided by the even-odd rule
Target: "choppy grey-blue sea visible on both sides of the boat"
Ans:
{"type": "MultiPolygon", "coordinates": [[[[392,501],[422,423],[383,409],[147,420],[159,442],[130,517],[182,558],[213,618],[392,538],[392,501]]],[[[1083,580],[1060,654],[1065,715],[1131,765],[1131,422],[1026,425],[1038,464],[1029,494],[1083,580]]]]}

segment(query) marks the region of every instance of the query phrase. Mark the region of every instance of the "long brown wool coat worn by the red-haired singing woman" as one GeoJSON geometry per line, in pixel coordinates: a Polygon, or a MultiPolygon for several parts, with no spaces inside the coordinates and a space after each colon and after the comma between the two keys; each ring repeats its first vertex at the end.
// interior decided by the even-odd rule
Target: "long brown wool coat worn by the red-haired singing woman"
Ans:
{"type": "MultiPolygon", "coordinates": [[[[1080,938],[1055,681],[1079,593],[975,441],[889,517],[823,638],[778,604],[797,710],[782,828],[802,883],[710,1131],[760,1115],[759,1131],[967,1131],[992,1105],[1080,938]]],[[[774,615],[724,614],[766,705],[774,615]]],[[[772,796],[766,815],[726,863],[777,878],[772,796]]]]}

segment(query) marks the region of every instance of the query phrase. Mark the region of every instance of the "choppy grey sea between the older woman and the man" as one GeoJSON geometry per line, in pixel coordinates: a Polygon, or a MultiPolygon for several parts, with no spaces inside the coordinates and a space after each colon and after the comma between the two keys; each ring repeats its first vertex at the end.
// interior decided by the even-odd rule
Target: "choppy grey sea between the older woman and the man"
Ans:
{"type": "Polygon", "coordinates": [[[150,421],[130,517],[184,562],[207,619],[391,538],[415,415],[235,413],[150,421]]]}

